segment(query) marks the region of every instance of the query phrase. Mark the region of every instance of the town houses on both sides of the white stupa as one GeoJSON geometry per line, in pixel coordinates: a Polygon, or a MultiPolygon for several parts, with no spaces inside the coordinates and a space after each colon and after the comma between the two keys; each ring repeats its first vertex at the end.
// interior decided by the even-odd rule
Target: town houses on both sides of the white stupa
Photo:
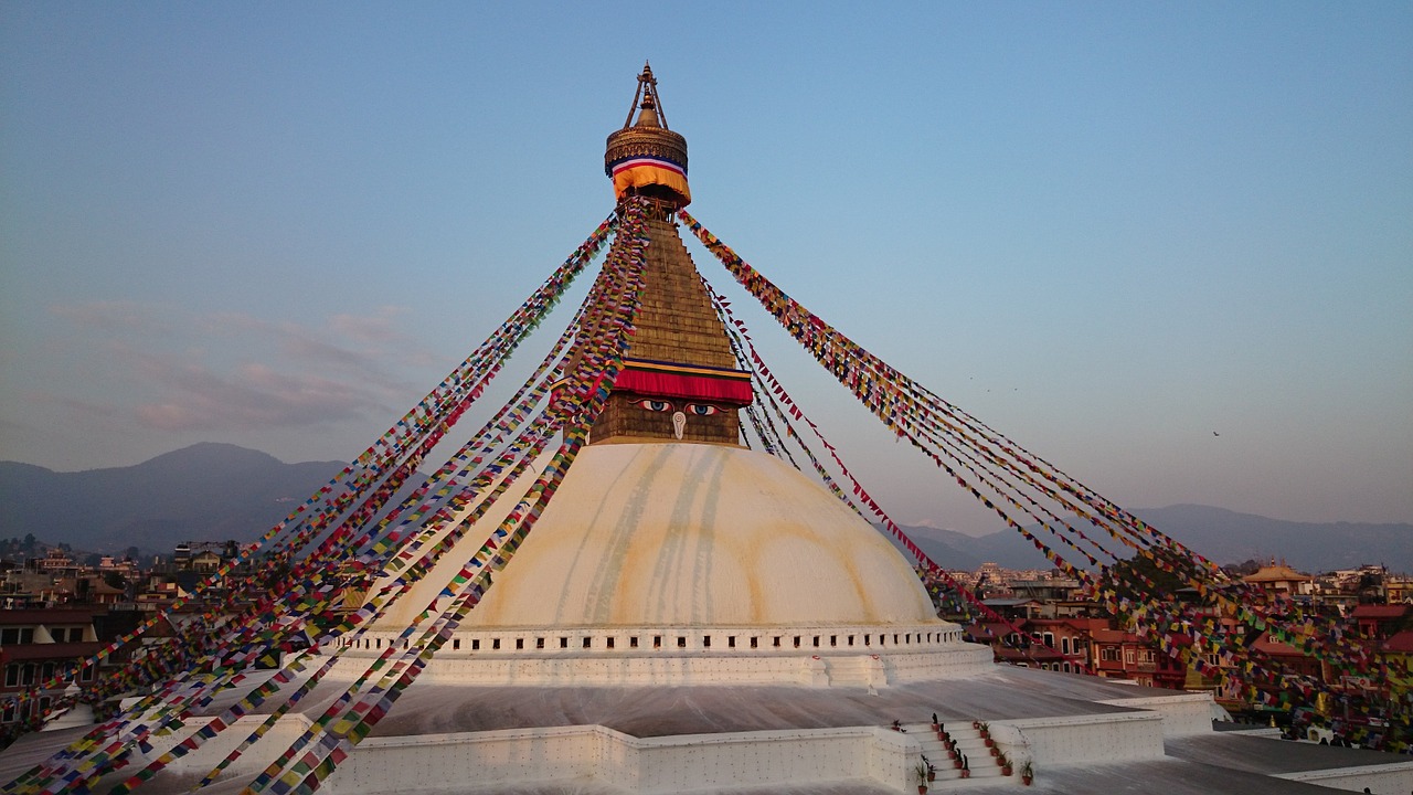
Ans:
{"type": "MultiPolygon", "coordinates": [[[[57,690],[82,686],[126,666],[133,655],[144,654],[143,644],[162,642],[177,634],[184,614],[205,608],[202,600],[189,598],[196,584],[240,552],[235,542],[187,543],[170,559],[146,569],[131,559],[114,557],[81,564],[62,549],[49,549],[20,564],[0,560],[0,736],[7,727],[16,729],[42,714],[57,690]],[[174,611],[174,604],[184,607],[174,611]],[[73,680],[65,679],[66,672],[78,669],[79,661],[92,658],[154,615],[161,618],[143,635],[144,641],[110,654],[96,669],[82,669],[71,676],[73,680]],[[47,690],[41,687],[45,685],[47,690]],[[32,693],[35,687],[41,687],[35,699],[7,697],[32,693]]],[[[237,570],[232,576],[243,573],[237,570]]],[[[1121,625],[1098,604],[1082,598],[1078,581],[1053,571],[1007,571],[988,563],[976,571],[954,571],[951,580],[974,590],[992,620],[975,620],[974,611],[959,610],[961,600],[944,600],[940,604],[942,615],[961,622],[966,639],[992,646],[999,662],[1156,687],[1205,689],[1238,717],[1267,719],[1279,712],[1283,724],[1335,723],[1371,745],[1406,743],[1406,738],[1389,740],[1393,731],[1375,731],[1379,716],[1389,713],[1390,704],[1410,706],[1407,678],[1388,672],[1406,672],[1413,662],[1413,581],[1389,576],[1382,567],[1310,576],[1272,562],[1245,577],[1267,600],[1299,603],[1340,617],[1348,637],[1366,644],[1382,673],[1351,678],[1335,675],[1328,665],[1276,638],[1253,639],[1259,651],[1282,661],[1286,671],[1316,678],[1327,690],[1352,696],[1340,703],[1345,712],[1349,703],[1364,704],[1365,709],[1358,710],[1361,714],[1332,714],[1338,707],[1331,703],[1294,710],[1252,703],[1229,679],[1211,673],[1222,665],[1217,655],[1204,655],[1212,668],[1198,672],[1190,648],[1177,655],[1161,651],[1150,638],[1121,625]],[[1262,710],[1272,714],[1262,714],[1262,710]]],[[[220,598],[222,593],[218,583],[203,588],[202,597],[220,598]]],[[[947,591],[940,588],[940,593],[947,591]]],[[[1174,596],[1197,603],[1193,590],[1174,596]]],[[[1229,615],[1215,618],[1235,621],[1229,615]]]]}

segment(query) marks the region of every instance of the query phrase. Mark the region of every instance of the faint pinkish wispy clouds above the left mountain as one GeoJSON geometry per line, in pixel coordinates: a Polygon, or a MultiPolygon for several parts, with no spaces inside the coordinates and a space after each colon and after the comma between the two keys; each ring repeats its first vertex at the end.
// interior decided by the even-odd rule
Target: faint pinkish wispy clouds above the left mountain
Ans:
{"type": "Polygon", "coordinates": [[[317,325],[249,314],[199,315],[133,301],[52,307],[92,351],[102,395],[66,405],[88,419],[119,414],[164,431],[317,426],[387,413],[406,399],[398,375],[417,349],[404,310],[339,314],[317,325]]]}

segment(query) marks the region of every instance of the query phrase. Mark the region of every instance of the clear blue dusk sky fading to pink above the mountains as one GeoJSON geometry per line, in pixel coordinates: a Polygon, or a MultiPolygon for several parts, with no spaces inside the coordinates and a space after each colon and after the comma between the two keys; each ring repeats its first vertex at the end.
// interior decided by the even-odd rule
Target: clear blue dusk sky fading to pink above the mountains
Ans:
{"type": "MultiPolygon", "coordinates": [[[[692,212],[952,403],[1129,508],[1409,522],[1410,41],[1409,3],[4,3],[0,458],[356,455],[612,209],[651,59],[692,212]]],[[[746,320],[896,519],[998,529],[746,320]]]]}

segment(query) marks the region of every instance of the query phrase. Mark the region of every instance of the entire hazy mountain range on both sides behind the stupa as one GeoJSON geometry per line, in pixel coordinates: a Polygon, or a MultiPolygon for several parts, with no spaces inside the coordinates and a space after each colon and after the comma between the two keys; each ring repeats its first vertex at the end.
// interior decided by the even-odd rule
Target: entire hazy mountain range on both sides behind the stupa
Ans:
{"type": "MultiPolygon", "coordinates": [[[[256,450],[215,443],[133,467],[83,472],[0,461],[0,539],[34,533],[42,542],[89,552],[137,546],[160,553],[185,540],[253,540],[342,468],[343,461],[285,464],[256,450]]],[[[1284,522],[1205,505],[1133,513],[1222,564],[1276,557],[1304,571],[1382,563],[1392,571],[1413,573],[1413,525],[1407,523],[1284,522]]],[[[1047,567],[1030,542],[1012,530],[985,536],[935,528],[904,532],[948,569],[975,569],[985,562],[1007,569],[1047,567]]]]}

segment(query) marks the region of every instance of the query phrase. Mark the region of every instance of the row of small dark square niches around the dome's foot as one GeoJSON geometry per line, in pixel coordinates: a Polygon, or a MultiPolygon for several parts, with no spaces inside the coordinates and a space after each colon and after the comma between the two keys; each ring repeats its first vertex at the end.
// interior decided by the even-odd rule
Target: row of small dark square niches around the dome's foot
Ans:
{"type": "MultiPolygon", "coordinates": [[[[461,654],[637,654],[637,652],[794,652],[805,649],[853,649],[855,652],[909,649],[962,642],[961,629],[917,628],[918,631],[887,631],[875,628],[805,631],[780,634],[704,634],[673,629],[646,632],[509,632],[509,634],[465,634],[454,635],[441,652],[461,654]]],[[[394,645],[410,648],[407,638],[384,638],[367,634],[362,638],[338,638],[335,646],[379,651],[394,645]]]]}

